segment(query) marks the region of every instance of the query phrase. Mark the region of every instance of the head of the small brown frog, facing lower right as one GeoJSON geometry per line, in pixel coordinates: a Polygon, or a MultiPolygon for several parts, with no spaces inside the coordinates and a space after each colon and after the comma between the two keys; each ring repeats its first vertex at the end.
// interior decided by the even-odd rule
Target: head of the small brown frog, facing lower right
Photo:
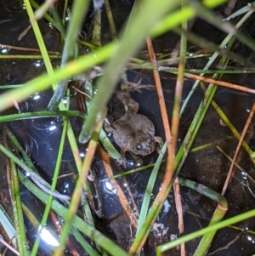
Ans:
{"type": "Polygon", "coordinates": [[[155,140],[154,137],[151,136],[150,134],[144,134],[143,131],[139,131],[134,141],[134,154],[137,154],[139,156],[147,156],[150,155],[150,153],[152,153],[153,151],[155,151],[155,140]]]}

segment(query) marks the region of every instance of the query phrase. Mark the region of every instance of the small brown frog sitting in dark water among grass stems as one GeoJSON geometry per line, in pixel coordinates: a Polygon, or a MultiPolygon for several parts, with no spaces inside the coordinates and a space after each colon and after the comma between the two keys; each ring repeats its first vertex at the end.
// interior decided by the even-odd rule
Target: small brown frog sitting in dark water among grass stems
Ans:
{"type": "Polygon", "coordinates": [[[119,92],[117,99],[127,105],[127,112],[112,126],[105,126],[105,130],[113,134],[113,139],[121,148],[121,159],[119,162],[125,167],[126,151],[135,155],[147,156],[156,148],[156,142],[160,147],[163,145],[161,137],[155,136],[155,127],[148,117],[138,114],[139,103],[130,98],[129,93],[119,92]]]}

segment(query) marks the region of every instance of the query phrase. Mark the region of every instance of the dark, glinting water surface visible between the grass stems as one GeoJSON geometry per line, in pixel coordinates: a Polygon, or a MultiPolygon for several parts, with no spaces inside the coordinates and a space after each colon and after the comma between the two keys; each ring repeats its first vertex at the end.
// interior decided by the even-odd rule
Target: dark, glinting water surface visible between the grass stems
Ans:
{"type": "MultiPolygon", "coordinates": [[[[116,15],[116,20],[119,20],[116,24],[117,31],[120,31],[124,21],[129,14],[132,4],[128,4],[121,1],[110,1],[113,8],[113,14],[116,15]],[[123,11],[120,12],[120,10],[123,11]]],[[[241,4],[241,1],[238,3],[241,4]]],[[[244,5],[245,3],[243,3],[244,5]]],[[[218,10],[218,12],[223,12],[218,10]]],[[[26,29],[29,25],[27,20],[26,11],[22,9],[22,6],[17,5],[15,1],[3,0],[0,3],[0,43],[37,48],[37,43],[33,32],[29,31],[26,37],[21,41],[17,40],[20,33],[26,29]]],[[[103,20],[106,19],[105,12],[102,12],[103,20]]],[[[251,30],[252,21],[246,25],[246,32],[252,37],[254,36],[254,29],[251,30]]],[[[109,41],[109,29],[107,22],[103,23],[103,34],[102,43],[109,41]]],[[[59,51],[58,36],[54,29],[51,29],[45,20],[40,21],[40,26],[42,28],[42,34],[45,38],[45,43],[48,49],[59,51]]],[[[88,30],[89,26],[85,24],[83,30],[88,30]]],[[[192,31],[202,35],[203,37],[209,38],[210,40],[220,43],[224,38],[224,34],[212,26],[201,20],[194,20],[192,26],[192,31]]],[[[85,31],[89,37],[88,31],[85,31]]],[[[163,35],[156,38],[154,41],[157,53],[171,53],[173,49],[178,49],[178,37],[172,33],[163,35]]],[[[192,45],[189,45],[192,48],[192,45]]],[[[243,54],[247,58],[254,60],[253,54],[249,52],[243,45],[239,46],[238,53],[243,54]]],[[[2,54],[22,54],[20,51],[3,47],[1,48],[2,54]]],[[[144,58],[144,51],[141,51],[140,55],[144,58]]],[[[147,57],[146,57],[147,58],[147,57]]],[[[19,84],[30,80],[33,77],[45,72],[45,66],[42,60],[1,60],[2,72],[0,74],[1,84],[19,84]]],[[[192,68],[203,68],[204,63],[207,60],[193,60],[188,62],[192,68]]],[[[58,65],[58,61],[54,61],[54,65],[58,65]]],[[[231,65],[235,65],[232,63],[231,65]]],[[[236,67],[236,66],[235,66],[236,67]]],[[[216,67],[214,67],[216,68],[216,67]]],[[[236,67],[238,68],[238,67],[236,67]]],[[[235,81],[236,84],[244,84],[249,88],[254,88],[252,84],[253,75],[232,75],[224,76],[224,81],[235,81]]],[[[149,71],[127,71],[127,79],[129,82],[140,82],[143,85],[154,85],[154,80],[149,71]]],[[[173,108],[173,92],[175,88],[176,77],[167,73],[161,72],[161,82],[163,86],[164,96],[167,105],[168,117],[171,120],[172,108],[173,108]]],[[[193,86],[193,81],[187,79],[184,82],[184,94],[183,99],[189,94],[190,88],[193,86]]],[[[40,111],[44,110],[48,105],[48,100],[52,95],[51,90],[35,94],[31,96],[30,99],[20,104],[20,110],[22,112],[27,111],[40,111]]],[[[158,100],[155,88],[143,89],[141,93],[133,92],[133,100],[139,102],[139,113],[144,114],[149,117],[150,120],[155,124],[156,135],[161,136],[164,139],[164,130],[161,123],[161,114],[159,110],[158,100]]],[[[180,120],[180,131],[179,131],[179,144],[183,141],[184,136],[190,126],[190,122],[195,116],[195,111],[203,98],[203,93],[200,88],[196,89],[194,98],[190,101],[183,116],[180,120]]],[[[74,97],[76,100],[76,98],[74,97]]],[[[250,94],[235,93],[231,89],[218,88],[217,94],[214,100],[222,108],[224,113],[229,117],[231,122],[234,124],[235,128],[241,132],[246,118],[249,115],[249,111],[252,108],[254,102],[254,97],[250,94]]],[[[118,108],[115,105],[116,97],[113,96],[110,106],[113,108],[118,108]]],[[[12,108],[6,113],[17,112],[16,109],[12,108]]],[[[75,134],[79,134],[81,128],[81,122],[76,118],[71,119],[72,125],[75,130],[75,134]]],[[[43,178],[47,179],[49,182],[52,179],[54,166],[56,161],[56,156],[59,148],[59,138],[62,130],[62,120],[60,118],[45,118],[45,119],[33,119],[9,122],[8,128],[10,128],[13,133],[20,140],[27,154],[31,157],[32,162],[37,167],[43,178]]],[[[246,136],[247,143],[254,150],[254,122],[249,129],[248,135],[246,136]]],[[[2,133],[1,133],[2,134],[2,133]]],[[[112,138],[110,137],[112,140],[112,138]]],[[[2,139],[1,139],[2,140],[2,139]]],[[[213,191],[221,192],[224,179],[226,178],[230,162],[228,162],[215,147],[215,141],[217,145],[221,147],[229,156],[233,156],[235,147],[238,143],[236,139],[232,137],[229,129],[224,127],[219,120],[218,114],[212,106],[207,111],[207,115],[202,122],[200,131],[195,139],[193,148],[212,143],[202,151],[190,152],[184,167],[181,170],[180,175],[187,179],[192,179],[202,185],[206,185],[213,191]],[[209,177],[209,178],[208,178],[209,177]]],[[[84,146],[80,145],[80,152],[85,151],[84,146]]],[[[150,164],[156,161],[157,153],[154,152],[149,156],[143,157],[144,164],[150,164]]],[[[132,156],[127,153],[127,160],[129,164],[127,168],[133,168],[136,162],[132,160],[132,156]]],[[[1,155],[1,197],[0,202],[8,213],[11,213],[10,200],[8,198],[8,187],[6,182],[6,166],[5,158],[1,155]]],[[[242,168],[246,170],[250,176],[254,177],[255,170],[252,162],[249,160],[249,156],[245,151],[241,151],[238,158],[238,162],[242,168]]],[[[115,161],[111,161],[113,173],[118,174],[119,171],[124,171],[122,166],[117,166],[115,161]]],[[[110,236],[114,241],[116,241],[123,248],[128,249],[133,242],[133,237],[135,236],[135,227],[133,219],[127,214],[124,208],[122,208],[122,203],[119,199],[119,191],[116,191],[111,181],[102,181],[102,179],[107,178],[105,174],[105,169],[102,164],[102,160],[99,156],[95,156],[93,168],[99,179],[99,189],[102,194],[103,200],[103,218],[98,220],[98,228],[104,232],[107,236],[110,236]]],[[[145,169],[143,172],[134,173],[126,176],[126,178],[116,179],[117,185],[120,186],[124,195],[127,197],[127,202],[133,210],[136,218],[139,216],[139,209],[144,198],[144,191],[146,189],[147,182],[150,178],[151,169],[145,169]]],[[[72,178],[70,176],[64,179],[59,179],[58,190],[62,194],[71,195],[73,187],[76,181],[77,170],[75,168],[75,162],[71,153],[70,145],[65,142],[65,151],[63,152],[63,158],[61,162],[61,174],[74,173],[72,178]]],[[[161,185],[161,178],[163,177],[163,167],[160,170],[158,179],[156,180],[156,186],[151,195],[151,200],[153,200],[158,192],[161,185]]],[[[235,216],[238,213],[243,213],[249,209],[254,208],[254,191],[255,185],[246,182],[246,178],[241,174],[239,170],[235,171],[235,176],[233,177],[229,188],[226,193],[226,198],[229,203],[229,211],[226,214],[226,218],[235,216]]],[[[22,201],[29,205],[31,211],[37,216],[37,219],[41,219],[44,206],[31,195],[30,192],[26,191],[23,186],[20,186],[22,201]]],[[[204,226],[207,226],[209,219],[212,217],[212,213],[215,209],[216,203],[210,201],[205,196],[201,196],[195,191],[191,191],[187,188],[181,188],[181,196],[184,209],[184,228],[185,234],[189,234],[191,231],[199,230],[204,226]]],[[[11,215],[11,214],[10,214],[11,215]]],[[[61,219],[56,217],[61,223],[61,219]]],[[[51,223],[53,225],[53,220],[51,223]]],[[[254,230],[254,221],[248,219],[237,226],[243,230],[254,230]]],[[[26,219],[27,234],[31,242],[35,240],[37,236],[37,230],[31,226],[31,223],[26,219]]],[[[173,192],[167,196],[167,201],[164,204],[164,208],[160,213],[159,217],[156,219],[156,224],[153,226],[153,230],[150,232],[148,242],[144,247],[142,255],[155,255],[156,247],[162,243],[168,242],[174,237],[178,236],[178,216],[174,204],[173,192]]],[[[187,255],[192,255],[199,243],[199,239],[195,241],[188,242],[186,244],[187,255]]],[[[86,255],[82,252],[82,249],[77,245],[76,240],[72,237],[71,242],[77,246],[77,251],[81,255],[86,255]]],[[[48,250],[48,245],[46,243],[41,245],[40,253],[42,255],[50,255],[50,250],[48,250]]],[[[66,252],[66,254],[69,254],[66,252]]],[[[212,247],[210,248],[208,255],[252,255],[255,253],[254,237],[247,232],[242,232],[240,230],[234,230],[227,228],[224,230],[219,230],[217,236],[212,242],[212,247]],[[229,242],[236,241],[232,244],[229,242]],[[227,246],[229,244],[229,246],[227,246]],[[223,248],[223,249],[219,249],[223,248]]],[[[179,248],[175,248],[171,252],[167,252],[164,255],[178,255],[179,248]]]]}

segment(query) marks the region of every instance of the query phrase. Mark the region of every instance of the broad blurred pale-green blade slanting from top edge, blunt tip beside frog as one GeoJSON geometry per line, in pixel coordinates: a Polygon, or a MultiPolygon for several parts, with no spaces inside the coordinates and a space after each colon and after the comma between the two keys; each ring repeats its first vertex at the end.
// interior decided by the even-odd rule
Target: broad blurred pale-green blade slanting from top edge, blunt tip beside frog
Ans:
{"type": "Polygon", "coordinates": [[[112,55],[111,60],[105,66],[105,73],[99,78],[97,85],[98,93],[94,95],[91,102],[88,119],[82,128],[79,141],[85,143],[88,141],[90,134],[94,131],[96,118],[104,110],[105,105],[111,98],[116,82],[121,77],[122,71],[127,63],[127,60],[132,56],[144,42],[145,37],[149,36],[151,28],[159,22],[167,12],[178,7],[179,1],[150,1],[145,0],[141,3],[139,10],[133,14],[133,17],[128,21],[125,32],[120,40],[119,47],[112,55]],[[153,12],[150,20],[146,19],[147,14],[153,12]],[[147,22],[144,22],[147,20],[147,22]],[[136,38],[133,42],[133,38],[136,38]],[[105,87],[107,84],[107,87],[105,87]]]}

